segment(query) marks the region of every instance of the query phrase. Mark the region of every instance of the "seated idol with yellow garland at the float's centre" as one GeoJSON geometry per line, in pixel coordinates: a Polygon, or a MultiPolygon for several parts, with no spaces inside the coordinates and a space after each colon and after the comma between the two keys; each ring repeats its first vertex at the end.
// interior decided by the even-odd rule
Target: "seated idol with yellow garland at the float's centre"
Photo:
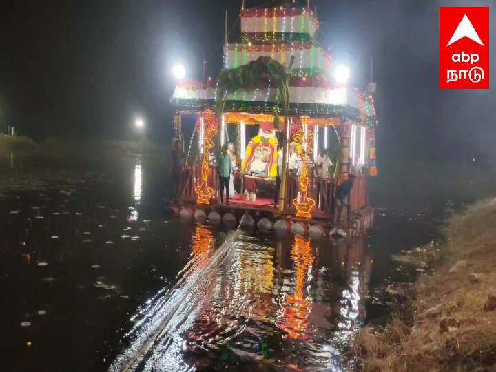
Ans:
{"type": "Polygon", "coordinates": [[[269,130],[258,131],[249,141],[246,156],[242,163],[243,172],[254,176],[276,177],[278,159],[278,140],[276,134],[269,130]]]}

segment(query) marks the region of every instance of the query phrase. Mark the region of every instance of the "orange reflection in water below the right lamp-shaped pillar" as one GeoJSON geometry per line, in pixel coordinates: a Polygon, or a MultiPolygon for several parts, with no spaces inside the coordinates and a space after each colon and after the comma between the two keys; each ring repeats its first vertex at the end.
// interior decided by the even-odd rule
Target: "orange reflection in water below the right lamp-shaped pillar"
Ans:
{"type": "MultiPolygon", "coordinates": [[[[309,325],[308,317],[312,309],[312,298],[304,296],[305,282],[311,280],[311,265],[315,257],[311,252],[310,240],[296,237],[291,250],[296,265],[296,287],[293,295],[285,298],[286,306],[278,317],[276,326],[286,332],[287,338],[306,339],[304,331],[309,325]]],[[[307,287],[307,293],[310,287],[307,287]]]]}

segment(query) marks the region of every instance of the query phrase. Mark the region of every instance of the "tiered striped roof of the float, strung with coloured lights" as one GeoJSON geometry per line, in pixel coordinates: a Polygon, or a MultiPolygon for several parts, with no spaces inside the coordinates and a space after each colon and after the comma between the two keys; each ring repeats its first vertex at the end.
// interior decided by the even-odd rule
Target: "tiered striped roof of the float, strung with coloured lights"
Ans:
{"type": "MultiPolygon", "coordinates": [[[[289,115],[377,125],[372,96],[333,80],[332,59],[316,42],[318,21],[311,10],[282,6],[242,9],[240,15],[242,43],[225,45],[224,69],[236,70],[260,57],[270,57],[289,68],[293,59],[287,70],[289,115]]],[[[225,112],[273,115],[279,89],[271,86],[270,80],[262,85],[227,94],[225,112]]],[[[198,111],[214,110],[217,94],[221,93],[214,81],[183,82],[176,86],[171,102],[198,111]]],[[[278,110],[278,114],[282,112],[278,110]]]]}

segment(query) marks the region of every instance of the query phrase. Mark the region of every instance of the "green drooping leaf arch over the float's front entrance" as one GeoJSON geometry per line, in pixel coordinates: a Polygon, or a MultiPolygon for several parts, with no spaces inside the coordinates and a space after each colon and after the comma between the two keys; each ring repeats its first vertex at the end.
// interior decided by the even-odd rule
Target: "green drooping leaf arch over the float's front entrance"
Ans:
{"type": "Polygon", "coordinates": [[[218,91],[216,102],[216,114],[218,120],[222,118],[227,94],[238,89],[256,89],[267,87],[267,81],[271,82],[271,87],[277,87],[276,104],[274,105],[274,127],[279,129],[279,115],[287,117],[289,114],[289,85],[288,71],[293,66],[294,56],[291,56],[289,68],[281,65],[275,59],[268,56],[260,56],[256,61],[251,61],[247,65],[242,65],[234,69],[226,69],[218,76],[218,91]],[[282,110],[281,110],[282,106],[282,110]]]}

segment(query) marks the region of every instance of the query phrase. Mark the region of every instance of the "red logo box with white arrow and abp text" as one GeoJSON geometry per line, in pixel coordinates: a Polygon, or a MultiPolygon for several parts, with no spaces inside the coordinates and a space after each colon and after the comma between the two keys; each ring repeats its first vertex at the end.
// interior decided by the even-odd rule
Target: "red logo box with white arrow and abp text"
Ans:
{"type": "Polygon", "coordinates": [[[489,88],[489,7],[440,8],[440,88],[489,88]]]}

